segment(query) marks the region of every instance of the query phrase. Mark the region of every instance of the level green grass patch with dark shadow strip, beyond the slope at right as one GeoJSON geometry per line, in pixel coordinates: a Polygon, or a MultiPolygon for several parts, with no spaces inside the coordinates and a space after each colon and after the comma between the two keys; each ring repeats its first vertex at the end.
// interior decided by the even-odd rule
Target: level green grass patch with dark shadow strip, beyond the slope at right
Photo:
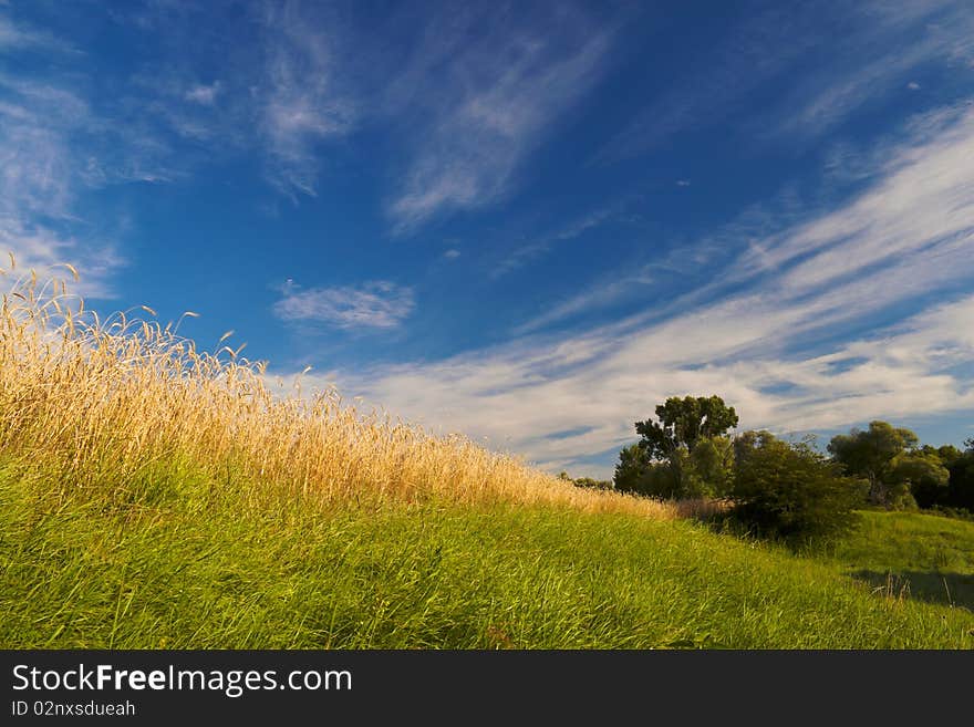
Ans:
{"type": "Polygon", "coordinates": [[[873,589],[974,612],[974,522],[918,512],[861,512],[835,549],[840,568],[873,589]]]}

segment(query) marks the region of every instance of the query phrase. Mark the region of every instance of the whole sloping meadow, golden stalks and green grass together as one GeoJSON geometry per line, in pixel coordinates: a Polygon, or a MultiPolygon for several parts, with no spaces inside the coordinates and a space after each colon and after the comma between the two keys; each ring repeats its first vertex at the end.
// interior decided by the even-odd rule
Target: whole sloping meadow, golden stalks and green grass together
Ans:
{"type": "Polygon", "coordinates": [[[974,523],[862,512],[795,553],[177,331],[4,295],[0,646],[974,647],[974,523]]]}

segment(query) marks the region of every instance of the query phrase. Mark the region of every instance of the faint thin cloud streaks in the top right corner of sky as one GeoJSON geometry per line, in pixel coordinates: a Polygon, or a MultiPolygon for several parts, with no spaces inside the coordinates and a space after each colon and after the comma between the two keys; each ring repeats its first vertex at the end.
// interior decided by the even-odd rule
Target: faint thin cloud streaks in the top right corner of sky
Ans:
{"type": "MultiPolygon", "coordinates": [[[[822,2],[774,6],[732,24],[709,52],[693,59],[680,80],[635,112],[594,160],[608,164],[653,149],[672,136],[722,123],[744,138],[821,136],[847,117],[932,70],[964,74],[974,60],[974,18],[962,0],[890,3],[822,2]],[[833,19],[828,55],[818,54],[822,14],[833,19]],[[814,72],[796,72],[817,59],[814,72]],[[787,80],[785,91],[775,84],[787,80]],[[748,98],[775,90],[750,115],[748,98]],[[735,125],[737,124],[737,125],[735,125]]],[[[910,86],[912,89],[912,86],[910,86]]]]}

